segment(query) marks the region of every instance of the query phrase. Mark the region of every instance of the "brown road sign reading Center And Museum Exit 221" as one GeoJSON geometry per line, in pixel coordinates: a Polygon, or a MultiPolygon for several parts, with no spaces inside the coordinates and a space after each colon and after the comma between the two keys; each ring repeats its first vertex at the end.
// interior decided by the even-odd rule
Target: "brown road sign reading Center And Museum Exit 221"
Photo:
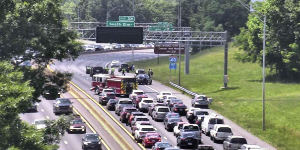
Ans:
{"type": "MultiPolygon", "coordinates": [[[[181,45],[180,53],[184,54],[184,45],[181,45]]],[[[165,45],[165,44],[155,44],[154,45],[155,54],[179,54],[179,45],[165,45]]]]}

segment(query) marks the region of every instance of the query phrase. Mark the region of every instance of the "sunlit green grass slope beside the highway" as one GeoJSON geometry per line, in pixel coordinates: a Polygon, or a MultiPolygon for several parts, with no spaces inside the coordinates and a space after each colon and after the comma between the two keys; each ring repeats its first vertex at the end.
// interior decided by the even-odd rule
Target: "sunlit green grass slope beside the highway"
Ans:
{"type": "MultiPolygon", "coordinates": [[[[184,75],[181,59],[181,86],[213,98],[211,109],[278,150],[300,150],[300,84],[266,82],[266,131],[262,131],[262,67],[234,60],[238,48],[229,47],[228,89],[223,86],[224,47],[213,47],[190,58],[190,74],[184,75]]],[[[170,78],[169,56],[135,62],[136,69],[153,69],[153,79],[170,86],[178,83],[178,70],[170,78]]],[[[179,64],[178,64],[179,66],[179,64]]],[[[272,75],[266,70],[266,75],[272,75]]],[[[170,86],[171,87],[171,86],[170,86]]]]}

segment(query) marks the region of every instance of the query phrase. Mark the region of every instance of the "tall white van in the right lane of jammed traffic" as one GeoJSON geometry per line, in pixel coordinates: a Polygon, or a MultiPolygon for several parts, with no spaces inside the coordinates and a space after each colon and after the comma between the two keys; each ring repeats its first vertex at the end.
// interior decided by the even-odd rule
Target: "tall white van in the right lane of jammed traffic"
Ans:
{"type": "Polygon", "coordinates": [[[215,124],[224,124],[223,116],[218,116],[215,113],[212,113],[211,115],[204,116],[201,130],[202,133],[206,134],[206,136],[209,136],[210,128],[212,128],[215,124]]]}

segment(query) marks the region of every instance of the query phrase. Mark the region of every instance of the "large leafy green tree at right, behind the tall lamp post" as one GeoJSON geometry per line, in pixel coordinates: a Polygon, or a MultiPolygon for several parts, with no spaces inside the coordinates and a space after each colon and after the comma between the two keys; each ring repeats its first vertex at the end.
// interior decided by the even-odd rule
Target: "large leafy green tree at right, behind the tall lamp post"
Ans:
{"type": "MultiPolygon", "coordinates": [[[[267,15],[266,67],[276,70],[281,79],[299,81],[300,75],[300,3],[299,0],[267,0],[256,3],[255,10],[267,15]]],[[[249,15],[247,29],[236,37],[244,53],[237,54],[242,62],[262,64],[263,23],[249,15]]]]}

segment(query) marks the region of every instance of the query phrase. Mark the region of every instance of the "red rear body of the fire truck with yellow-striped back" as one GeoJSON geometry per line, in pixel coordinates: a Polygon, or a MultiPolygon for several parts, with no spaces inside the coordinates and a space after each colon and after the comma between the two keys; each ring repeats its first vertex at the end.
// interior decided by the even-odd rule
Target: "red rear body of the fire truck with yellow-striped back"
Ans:
{"type": "Polygon", "coordinates": [[[114,89],[116,95],[128,95],[132,90],[137,90],[135,77],[131,76],[111,76],[106,80],[107,88],[114,89]]]}

